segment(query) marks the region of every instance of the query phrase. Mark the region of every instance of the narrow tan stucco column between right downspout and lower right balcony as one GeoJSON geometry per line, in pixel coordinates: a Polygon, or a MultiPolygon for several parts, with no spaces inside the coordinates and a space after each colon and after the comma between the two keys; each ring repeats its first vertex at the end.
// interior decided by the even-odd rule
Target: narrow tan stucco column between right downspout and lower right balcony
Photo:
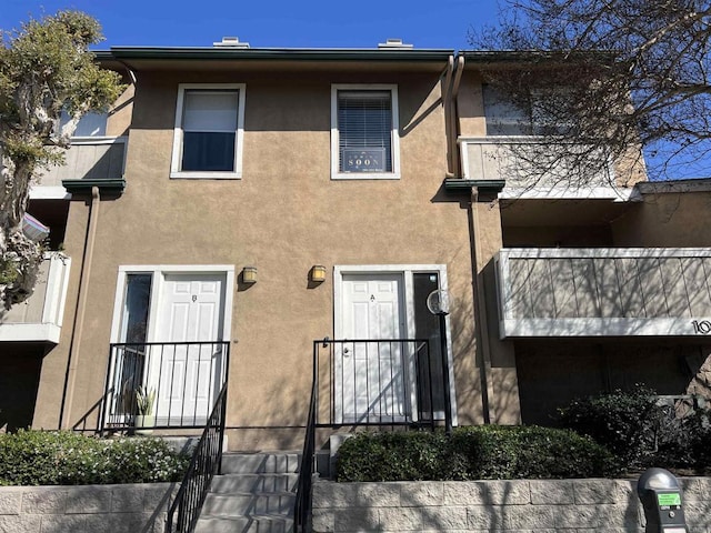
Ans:
{"type": "Polygon", "coordinates": [[[470,213],[478,330],[477,361],[482,372],[484,421],[519,424],[521,404],[513,342],[499,339],[493,257],[503,247],[503,239],[500,204],[495,194],[489,195],[473,189],[470,213]]]}

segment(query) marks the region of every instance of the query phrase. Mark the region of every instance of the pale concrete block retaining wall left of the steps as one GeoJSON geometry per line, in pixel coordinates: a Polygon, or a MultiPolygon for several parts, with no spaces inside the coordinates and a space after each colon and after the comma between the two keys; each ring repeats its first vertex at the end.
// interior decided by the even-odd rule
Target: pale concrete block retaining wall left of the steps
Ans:
{"type": "Polygon", "coordinates": [[[0,486],[0,533],[163,533],[178,483],[0,486]]]}

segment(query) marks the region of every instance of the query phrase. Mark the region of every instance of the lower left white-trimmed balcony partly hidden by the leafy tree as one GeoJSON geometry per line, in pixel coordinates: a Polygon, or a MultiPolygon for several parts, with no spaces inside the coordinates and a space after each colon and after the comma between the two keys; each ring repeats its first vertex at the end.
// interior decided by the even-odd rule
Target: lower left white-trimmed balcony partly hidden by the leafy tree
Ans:
{"type": "Polygon", "coordinates": [[[70,265],[60,252],[44,254],[32,295],[0,311],[0,342],[59,343],[70,265]]]}

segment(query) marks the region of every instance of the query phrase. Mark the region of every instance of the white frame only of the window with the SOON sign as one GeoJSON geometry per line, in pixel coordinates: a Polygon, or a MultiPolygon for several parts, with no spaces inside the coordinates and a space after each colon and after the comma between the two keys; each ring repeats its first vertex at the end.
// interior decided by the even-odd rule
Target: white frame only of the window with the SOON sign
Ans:
{"type": "Polygon", "coordinates": [[[398,105],[398,86],[394,83],[334,83],[331,86],[331,179],[332,180],[399,180],[400,179],[400,108],[398,105]],[[341,172],[338,91],[389,91],[392,113],[390,148],[392,155],[391,172],[341,172]]]}

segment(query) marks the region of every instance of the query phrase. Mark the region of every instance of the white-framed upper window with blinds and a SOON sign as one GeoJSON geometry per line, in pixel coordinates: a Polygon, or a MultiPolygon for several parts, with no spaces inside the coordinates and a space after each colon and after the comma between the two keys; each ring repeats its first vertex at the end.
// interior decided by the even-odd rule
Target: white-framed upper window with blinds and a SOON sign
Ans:
{"type": "Polygon", "coordinates": [[[331,177],[399,179],[397,86],[332,86],[331,177]]]}

